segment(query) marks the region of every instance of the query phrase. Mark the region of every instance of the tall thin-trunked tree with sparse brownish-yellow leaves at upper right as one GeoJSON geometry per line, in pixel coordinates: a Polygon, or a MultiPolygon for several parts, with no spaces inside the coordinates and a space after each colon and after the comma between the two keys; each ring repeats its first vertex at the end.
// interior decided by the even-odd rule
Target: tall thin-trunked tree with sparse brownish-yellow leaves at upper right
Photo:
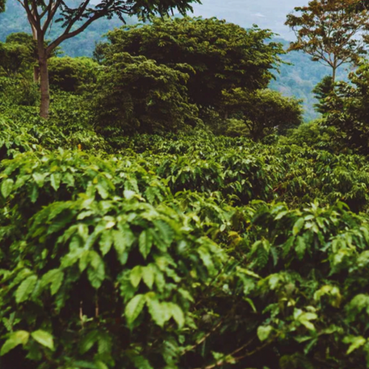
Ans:
{"type": "Polygon", "coordinates": [[[366,54],[361,36],[368,29],[369,12],[362,0],[312,0],[308,6],[287,15],[286,25],[296,34],[289,51],[303,50],[312,60],[336,70],[345,63],[357,63],[366,54]]]}

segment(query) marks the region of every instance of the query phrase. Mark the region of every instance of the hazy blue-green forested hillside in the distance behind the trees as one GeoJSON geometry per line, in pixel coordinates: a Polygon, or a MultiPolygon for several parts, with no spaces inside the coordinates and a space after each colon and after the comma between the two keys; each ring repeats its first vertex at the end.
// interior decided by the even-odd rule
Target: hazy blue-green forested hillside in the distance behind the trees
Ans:
{"type": "MultiPolygon", "coordinates": [[[[292,1],[290,8],[292,9],[294,5],[295,3],[292,1]]],[[[214,5],[212,5],[212,7],[213,6],[214,5]]],[[[242,4],[242,6],[245,6],[245,4],[242,4]]],[[[30,33],[30,26],[24,16],[24,10],[21,8],[21,5],[15,0],[8,0],[6,7],[6,12],[0,14],[0,41],[5,42],[6,37],[12,33],[30,33]]],[[[285,15],[283,15],[283,17],[285,17],[285,15]]],[[[127,18],[125,21],[127,24],[135,24],[137,22],[135,17],[127,18]]],[[[251,26],[251,24],[252,22],[244,24],[244,26],[251,26]]],[[[101,42],[102,35],[105,35],[109,30],[113,30],[114,28],[119,28],[121,26],[122,22],[117,17],[113,17],[111,20],[99,19],[95,23],[91,24],[84,33],[71,39],[67,39],[60,46],[60,50],[65,55],[69,55],[71,57],[91,57],[96,43],[101,42]]],[[[269,25],[268,28],[272,28],[271,25],[269,25]]],[[[60,33],[60,23],[55,23],[46,38],[54,39],[57,35],[60,35],[60,33]]],[[[287,50],[289,42],[285,39],[280,39],[278,37],[274,39],[274,41],[281,42],[283,47],[287,50]]],[[[283,61],[292,63],[294,67],[292,68],[285,64],[281,65],[280,73],[276,73],[275,75],[276,80],[271,80],[270,82],[271,89],[280,91],[285,96],[295,96],[298,99],[302,99],[303,107],[305,109],[305,121],[317,118],[318,114],[314,111],[313,107],[316,100],[312,90],[325,75],[330,73],[330,69],[327,68],[327,66],[312,62],[308,55],[305,55],[300,51],[280,55],[280,57],[283,61]]],[[[339,69],[338,79],[345,80],[347,74],[348,73],[345,69],[339,69]]]]}

